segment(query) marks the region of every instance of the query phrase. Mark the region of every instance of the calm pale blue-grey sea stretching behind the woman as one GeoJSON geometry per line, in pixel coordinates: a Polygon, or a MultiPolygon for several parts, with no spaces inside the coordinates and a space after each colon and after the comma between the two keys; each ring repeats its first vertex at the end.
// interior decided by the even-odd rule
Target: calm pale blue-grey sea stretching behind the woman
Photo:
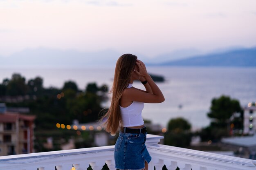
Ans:
{"type": "MultiPolygon", "coordinates": [[[[150,66],[147,71],[166,79],[165,82],[157,82],[165,101],[145,104],[142,116],[162,127],[177,117],[189,121],[192,130],[208,126],[211,100],[221,95],[237,99],[243,107],[249,102],[256,102],[256,67],[150,66]]],[[[0,68],[0,81],[10,79],[13,73],[20,73],[26,81],[40,76],[45,88],[62,88],[64,82],[72,80],[81,90],[91,82],[98,86],[105,84],[110,89],[114,68],[0,68]]],[[[133,86],[144,89],[140,82],[134,82],[133,86]]],[[[102,106],[110,106],[110,101],[102,106]]]]}

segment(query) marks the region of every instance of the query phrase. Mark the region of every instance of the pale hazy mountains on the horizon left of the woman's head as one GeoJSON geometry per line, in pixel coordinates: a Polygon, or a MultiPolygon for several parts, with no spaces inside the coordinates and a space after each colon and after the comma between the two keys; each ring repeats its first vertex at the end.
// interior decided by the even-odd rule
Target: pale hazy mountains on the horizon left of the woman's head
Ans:
{"type": "Polygon", "coordinates": [[[0,57],[0,66],[5,67],[50,67],[85,68],[115,64],[121,54],[113,50],[80,52],[49,48],[25,49],[8,57],[0,57]]]}

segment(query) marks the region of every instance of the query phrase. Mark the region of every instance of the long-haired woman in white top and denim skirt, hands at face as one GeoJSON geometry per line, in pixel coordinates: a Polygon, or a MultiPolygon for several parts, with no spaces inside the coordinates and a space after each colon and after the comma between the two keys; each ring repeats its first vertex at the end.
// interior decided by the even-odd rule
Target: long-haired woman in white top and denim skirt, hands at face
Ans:
{"type": "Polygon", "coordinates": [[[141,117],[144,103],[164,102],[164,95],[148,75],[145,64],[137,56],[124,54],[117,60],[110,108],[106,115],[106,131],[115,134],[115,165],[120,170],[148,170],[151,157],[146,149],[146,127],[141,117]],[[132,87],[140,80],[146,91],[132,87]]]}

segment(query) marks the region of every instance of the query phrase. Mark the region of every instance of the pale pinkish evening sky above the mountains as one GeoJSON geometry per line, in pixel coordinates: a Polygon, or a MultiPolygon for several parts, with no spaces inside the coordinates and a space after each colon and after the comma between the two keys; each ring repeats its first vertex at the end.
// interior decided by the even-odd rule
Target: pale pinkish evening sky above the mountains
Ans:
{"type": "Polygon", "coordinates": [[[256,46],[255,0],[0,0],[0,56],[39,47],[148,57],[256,46]]]}

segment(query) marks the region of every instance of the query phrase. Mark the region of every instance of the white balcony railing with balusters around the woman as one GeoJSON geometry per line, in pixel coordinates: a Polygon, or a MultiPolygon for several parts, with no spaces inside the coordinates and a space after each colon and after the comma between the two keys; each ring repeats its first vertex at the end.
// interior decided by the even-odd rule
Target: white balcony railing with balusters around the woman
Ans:
{"type": "MultiPolygon", "coordinates": [[[[146,146],[152,157],[149,170],[256,170],[256,161],[198,150],[158,144],[162,136],[147,135],[146,146]]],[[[101,170],[115,169],[114,146],[40,152],[0,157],[0,170],[101,170]]]]}

